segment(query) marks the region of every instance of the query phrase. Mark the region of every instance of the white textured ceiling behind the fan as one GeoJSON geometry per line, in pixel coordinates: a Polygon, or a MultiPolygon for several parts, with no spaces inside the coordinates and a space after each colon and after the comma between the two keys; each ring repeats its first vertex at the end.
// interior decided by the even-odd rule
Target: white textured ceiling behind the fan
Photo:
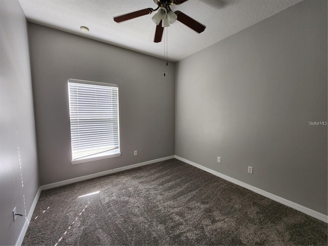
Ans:
{"type": "MultiPolygon", "coordinates": [[[[1,0],[0,0],[1,1],[1,0]]],[[[101,42],[165,58],[181,60],[302,0],[189,0],[173,11],[196,19],[207,28],[198,34],[180,22],[165,28],[162,42],[153,43],[156,25],[151,15],[116,23],[113,17],[145,8],[153,0],[19,0],[29,22],[101,42]],[[79,30],[86,26],[90,32],[79,30]],[[165,41],[165,42],[164,42],[165,41]]]]}

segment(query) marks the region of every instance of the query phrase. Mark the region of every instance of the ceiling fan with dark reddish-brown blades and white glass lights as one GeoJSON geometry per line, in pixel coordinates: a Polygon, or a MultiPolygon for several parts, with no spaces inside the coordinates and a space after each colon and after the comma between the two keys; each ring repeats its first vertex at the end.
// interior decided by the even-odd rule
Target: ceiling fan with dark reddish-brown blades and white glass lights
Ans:
{"type": "Polygon", "coordinates": [[[178,20],[179,22],[185,24],[194,31],[201,33],[205,30],[206,26],[200,24],[199,22],[182,13],[181,11],[173,12],[170,8],[170,6],[173,4],[179,5],[187,1],[188,0],[154,0],[155,4],[157,5],[156,9],[141,9],[132,13],[116,16],[114,17],[114,21],[120,23],[128,19],[133,19],[142,15],[151,14],[154,11],[158,10],[158,12],[152,17],[153,22],[157,25],[154,38],[155,43],[159,43],[161,41],[164,28],[169,27],[170,24],[175,22],[175,20],[178,20]]]}

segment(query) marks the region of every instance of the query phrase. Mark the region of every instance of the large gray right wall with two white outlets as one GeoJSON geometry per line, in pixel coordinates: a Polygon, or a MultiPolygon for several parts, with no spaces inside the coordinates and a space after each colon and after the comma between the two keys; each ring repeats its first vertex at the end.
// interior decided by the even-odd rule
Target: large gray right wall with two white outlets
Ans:
{"type": "Polygon", "coordinates": [[[327,1],[179,61],[175,119],[177,156],[327,214],[327,1]]]}

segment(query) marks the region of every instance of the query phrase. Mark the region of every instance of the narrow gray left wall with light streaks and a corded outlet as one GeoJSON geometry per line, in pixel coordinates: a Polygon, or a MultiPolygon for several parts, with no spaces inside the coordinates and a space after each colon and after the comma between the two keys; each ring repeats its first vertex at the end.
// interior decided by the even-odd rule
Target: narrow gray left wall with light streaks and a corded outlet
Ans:
{"type": "Polygon", "coordinates": [[[13,245],[39,188],[27,21],[18,1],[0,1],[0,57],[0,245],[13,245]],[[24,215],[15,222],[14,207],[24,215]]]}

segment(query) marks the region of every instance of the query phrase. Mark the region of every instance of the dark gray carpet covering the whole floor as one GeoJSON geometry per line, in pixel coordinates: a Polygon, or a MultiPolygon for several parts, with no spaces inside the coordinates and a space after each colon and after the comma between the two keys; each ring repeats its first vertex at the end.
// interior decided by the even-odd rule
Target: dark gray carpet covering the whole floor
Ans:
{"type": "Polygon", "coordinates": [[[196,244],[327,245],[327,224],[171,159],[43,191],[23,241],[196,244]]]}

